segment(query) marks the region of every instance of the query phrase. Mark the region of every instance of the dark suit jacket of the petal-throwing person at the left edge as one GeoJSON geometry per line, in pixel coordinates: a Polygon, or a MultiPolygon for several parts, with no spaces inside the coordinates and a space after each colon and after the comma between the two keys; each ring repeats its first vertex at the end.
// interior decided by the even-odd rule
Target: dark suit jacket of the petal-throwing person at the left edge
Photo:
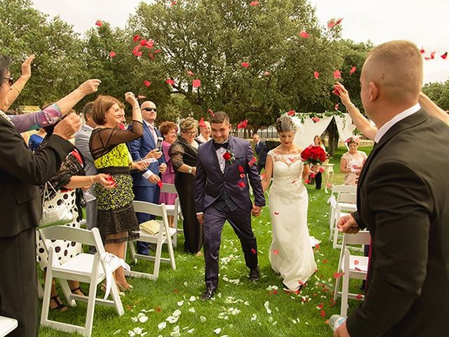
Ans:
{"type": "Polygon", "coordinates": [[[73,145],[51,136],[34,154],[10,121],[0,117],[0,237],[12,237],[39,225],[39,185],[60,169],[73,145]]]}

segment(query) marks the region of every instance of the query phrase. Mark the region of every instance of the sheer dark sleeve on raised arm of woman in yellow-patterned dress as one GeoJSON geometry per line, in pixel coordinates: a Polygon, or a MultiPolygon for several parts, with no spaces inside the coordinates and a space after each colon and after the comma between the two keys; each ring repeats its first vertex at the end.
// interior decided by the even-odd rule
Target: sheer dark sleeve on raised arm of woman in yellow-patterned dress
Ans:
{"type": "Polygon", "coordinates": [[[140,121],[133,121],[131,128],[121,130],[120,128],[98,128],[92,133],[89,141],[89,149],[93,159],[98,159],[102,155],[112,150],[116,145],[128,143],[143,136],[143,124],[140,121]]]}

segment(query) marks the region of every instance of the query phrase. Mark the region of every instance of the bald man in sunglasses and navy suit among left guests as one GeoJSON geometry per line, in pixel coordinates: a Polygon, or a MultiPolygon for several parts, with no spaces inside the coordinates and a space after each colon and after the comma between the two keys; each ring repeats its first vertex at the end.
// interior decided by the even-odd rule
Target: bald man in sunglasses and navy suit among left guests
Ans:
{"type": "MultiPolygon", "coordinates": [[[[145,160],[149,152],[158,152],[156,161],[153,161],[147,169],[131,173],[133,177],[133,192],[135,200],[147,201],[153,204],[159,204],[159,194],[161,189],[158,183],[161,181],[159,173],[166,170],[165,159],[161,152],[162,137],[159,130],[154,126],[157,117],[156,105],[147,100],[140,105],[143,119],[143,136],[127,143],[128,150],[133,157],[133,161],[145,160]],[[159,139],[160,138],[160,139],[159,139]]],[[[153,157],[153,156],[152,156],[153,157]]],[[[139,223],[151,220],[147,214],[136,213],[139,223]]],[[[148,255],[148,245],[144,242],[138,242],[138,253],[148,255]]]]}

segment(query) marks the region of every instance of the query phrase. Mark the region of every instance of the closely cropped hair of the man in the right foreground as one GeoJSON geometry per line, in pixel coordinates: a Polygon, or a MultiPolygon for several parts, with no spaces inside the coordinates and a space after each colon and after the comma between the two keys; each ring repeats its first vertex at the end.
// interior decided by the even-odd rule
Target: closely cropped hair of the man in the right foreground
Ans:
{"type": "Polygon", "coordinates": [[[363,65],[363,77],[374,82],[392,102],[417,100],[422,87],[422,56],[410,41],[389,41],[373,48],[363,65]]]}

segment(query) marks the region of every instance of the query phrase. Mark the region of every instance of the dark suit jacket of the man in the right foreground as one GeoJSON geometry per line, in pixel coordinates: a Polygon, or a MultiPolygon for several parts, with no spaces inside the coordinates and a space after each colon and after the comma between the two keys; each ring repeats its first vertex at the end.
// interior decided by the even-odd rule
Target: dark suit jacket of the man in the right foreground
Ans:
{"type": "Polygon", "coordinates": [[[360,227],[373,239],[368,292],[351,337],[448,336],[449,127],[423,110],[394,124],[358,181],[360,227]]]}

